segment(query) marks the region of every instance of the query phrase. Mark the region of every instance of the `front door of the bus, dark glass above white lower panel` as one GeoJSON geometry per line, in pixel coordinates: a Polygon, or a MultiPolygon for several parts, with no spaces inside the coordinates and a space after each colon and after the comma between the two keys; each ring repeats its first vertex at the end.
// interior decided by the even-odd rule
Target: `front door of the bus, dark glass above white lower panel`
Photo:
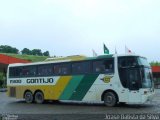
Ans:
{"type": "Polygon", "coordinates": [[[129,68],[127,70],[127,86],[129,88],[129,102],[141,102],[141,77],[138,68],[129,68]]]}

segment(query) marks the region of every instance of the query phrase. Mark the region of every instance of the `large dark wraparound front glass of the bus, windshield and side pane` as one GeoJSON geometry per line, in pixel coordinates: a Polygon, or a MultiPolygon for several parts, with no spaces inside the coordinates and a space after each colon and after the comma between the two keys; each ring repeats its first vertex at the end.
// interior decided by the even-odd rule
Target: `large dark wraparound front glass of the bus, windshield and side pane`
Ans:
{"type": "Polygon", "coordinates": [[[118,66],[123,87],[130,90],[152,87],[152,72],[146,58],[139,56],[119,57],[118,66]]]}

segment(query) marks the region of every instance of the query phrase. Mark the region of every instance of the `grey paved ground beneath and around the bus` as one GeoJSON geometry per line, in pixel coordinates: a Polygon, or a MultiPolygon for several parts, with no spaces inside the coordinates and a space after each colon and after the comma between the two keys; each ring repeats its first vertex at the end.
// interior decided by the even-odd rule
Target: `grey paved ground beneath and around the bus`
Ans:
{"type": "MultiPolygon", "coordinates": [[[[160,90],[156,90],[156,95],[151,103],[144,105],[119,105],[116,107],[106,107],[103,104],[71,103],[71,102],[46,102],[44,104],[27,104],[23,100],[8,98],[4,92],[0,92],[0,113],[1,114],[26,114],[38,117],[57,115],[60,119],[76,117],[80,114],[86,115],[90,119],[97,119],[106,114],[141,114],[160,113],[160,90]],[[63,116],[61,116],[63,114],[63,116]],[[70,114],[70,116],[65,116],[70,114]],[[96,118],[97,117],[97,118],[96,118]]],[[[86,117],[85,116],[85,117],[86,117]]],[[[103,116],[104,117],[104,116],[103,116]]],[[[45,117],[47,119],[47,117],[45,117]]],[[[80,118],[84,118],[80,117],[80,118]]],[[[75,119],[75,118],[74,118],[75,119]]],[[[58,119],[55,119],[58,120],[58,119]]]]}

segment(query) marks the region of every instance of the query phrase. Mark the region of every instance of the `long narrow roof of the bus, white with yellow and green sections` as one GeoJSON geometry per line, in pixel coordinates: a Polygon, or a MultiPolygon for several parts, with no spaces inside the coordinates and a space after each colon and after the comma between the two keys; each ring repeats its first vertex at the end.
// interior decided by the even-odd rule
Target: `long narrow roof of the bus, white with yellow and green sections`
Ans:
{"type": "Polygon", "coordinates": [[[71,62],[71,61],[83,61],[83,60],[94,60],[94,59],[103,59],[103,58],[113,58],[120,56],[139,56],[135,54],[109,54],[109,55],[99,55],[97,57],[86,57],[82,55],[74,55],[67,57],[59,57],[59,58],[50,58],[48,60],[42,62],[34,62],[34,63],[14,63],[9,64],[9,67],[12,66],[28,66],[28,65],[40,65],[40,64],[50,64],[50,63],[62,63],[62,62],[71,62]]]}

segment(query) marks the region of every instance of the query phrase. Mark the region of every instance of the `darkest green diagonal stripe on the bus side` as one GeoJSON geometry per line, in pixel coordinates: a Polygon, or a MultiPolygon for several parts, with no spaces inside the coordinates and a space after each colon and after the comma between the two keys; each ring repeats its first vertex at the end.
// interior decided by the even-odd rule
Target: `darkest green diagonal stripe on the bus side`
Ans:
{"type": "Polygon", "coordinates": [[[93,75],[93,74],[84,76],[81,83],[70,97],[70,100],[79,100],[79,101],[82,100],[83,97],[88,92],[88,90],[90,89],[90,87],[93,85],[97,77],[98,75],[93,75]]]}

